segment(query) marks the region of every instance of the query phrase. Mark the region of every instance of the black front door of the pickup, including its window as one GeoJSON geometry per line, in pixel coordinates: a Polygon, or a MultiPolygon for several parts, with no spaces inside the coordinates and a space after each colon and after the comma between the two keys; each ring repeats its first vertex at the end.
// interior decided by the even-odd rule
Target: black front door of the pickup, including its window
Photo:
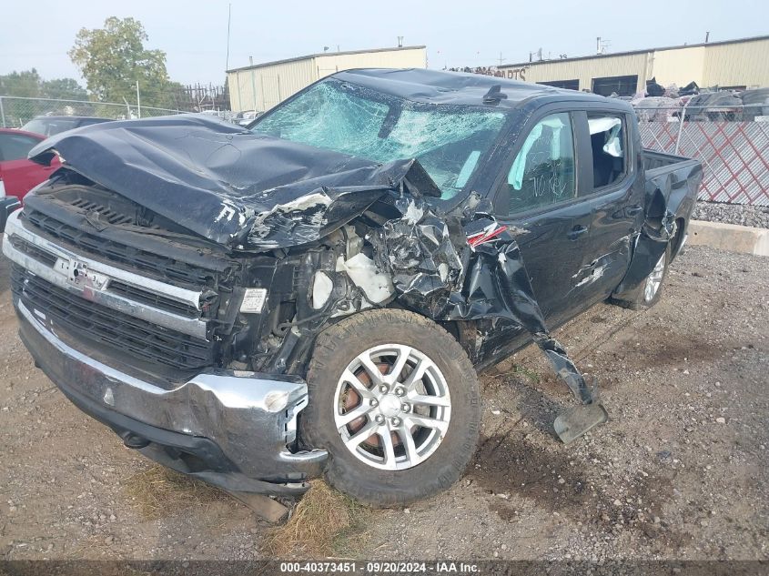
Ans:
{"type": "MultiPolygon", "coordinates": [[[[582,112],[554,111],[532,120],[517,138],[493,200],[497,219],[521,248],[549,327],[571,317],[576,278],[592,260],[592,198],[581,194],[592,184],[584,161],[586,130],[582,112]]],[[[514,324],[496,322],[481,344],[481,358],[514,347],[520,333],[514,324]]]]}

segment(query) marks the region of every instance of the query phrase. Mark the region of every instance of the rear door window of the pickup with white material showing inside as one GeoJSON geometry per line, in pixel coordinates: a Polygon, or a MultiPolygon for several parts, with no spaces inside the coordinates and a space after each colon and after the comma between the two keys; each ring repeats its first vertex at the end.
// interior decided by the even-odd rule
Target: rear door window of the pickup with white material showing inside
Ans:
{"type": "Polygon", "coordinates": [[[611,186],[621,180],[626,171],[623,118],[620,115],[591,115],[588,116],[588,128],[592,147],[592,187],[611,186]]]}

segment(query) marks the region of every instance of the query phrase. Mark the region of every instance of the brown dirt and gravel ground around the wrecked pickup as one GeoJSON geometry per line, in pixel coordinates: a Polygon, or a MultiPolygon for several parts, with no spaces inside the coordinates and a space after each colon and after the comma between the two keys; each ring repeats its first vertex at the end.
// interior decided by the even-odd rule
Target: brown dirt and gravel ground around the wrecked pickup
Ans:
{"type": "MultiPolygon", "coordinates": [[[[246,507],[124,448],[35,367],[0,264],[0,558],[256,559],[246,507]]],[[[344,556],[769,559],[769,260],[690,248],[647,312],[599,305],[558,330],[611,421],[563,446],[570,402],[538,352],[482,377],[459,484],[372,510],[344,556]]]]}

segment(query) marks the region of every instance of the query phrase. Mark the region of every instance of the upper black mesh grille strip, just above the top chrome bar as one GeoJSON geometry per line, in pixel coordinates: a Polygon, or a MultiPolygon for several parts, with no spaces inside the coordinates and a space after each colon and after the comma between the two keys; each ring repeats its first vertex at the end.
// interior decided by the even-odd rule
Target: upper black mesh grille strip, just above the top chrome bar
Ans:
{"type": "Polygon", "coordinates": [[[213,270],[191,266],[174,258],[96,237],[37,210],[26,209],[24,216],[33,226],[62,240],[69,248],[80,248],[84,254],[93,254],[118,264],[149,271],[156,278],[177,280],[195,286],[215,286],[217,272],[213,270]]]}

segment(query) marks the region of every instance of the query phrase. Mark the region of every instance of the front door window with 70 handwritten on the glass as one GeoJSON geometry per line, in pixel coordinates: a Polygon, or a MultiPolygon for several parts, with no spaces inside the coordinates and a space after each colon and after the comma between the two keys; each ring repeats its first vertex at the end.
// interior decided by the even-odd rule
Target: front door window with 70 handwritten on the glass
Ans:
{"type": "Polygon", "coordinates": [[[531,128],[507,178],[510,213],[548,206],[576,196],[574,136],[567,113],[546,116],[531,128]]]}

